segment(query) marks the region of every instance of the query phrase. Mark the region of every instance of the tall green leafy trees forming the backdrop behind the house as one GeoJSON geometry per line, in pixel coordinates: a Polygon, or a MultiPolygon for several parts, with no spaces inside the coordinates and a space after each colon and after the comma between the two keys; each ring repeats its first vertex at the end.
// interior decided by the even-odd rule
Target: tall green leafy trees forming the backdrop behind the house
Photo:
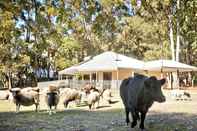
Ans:
{"type": "Polygon", "coordinates": [[[107,50],[142,60],[170,59],[169,15],[175,42],[177,18],[180,23],[180,61],[197,65],[197,3],[181,0],[177,9],[176,2],[0,1],[1,74],[27,66],[61,70],[107,50]]]}

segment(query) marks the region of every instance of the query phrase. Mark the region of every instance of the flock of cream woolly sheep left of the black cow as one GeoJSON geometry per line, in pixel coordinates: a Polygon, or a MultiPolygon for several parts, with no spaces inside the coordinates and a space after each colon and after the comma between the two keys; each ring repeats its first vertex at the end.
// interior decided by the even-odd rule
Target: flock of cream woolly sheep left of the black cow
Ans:
{"type": "Polygon", "coordinates": [[[63,99],[63,104],[67,108],[69,102],[75,101],[87,103],[89,109],[96,109],[95,103],[99,106],[100,98],[108,101],[111,104],[111,90],[109,88],[95,87],[87,83],[81,89],[69,88],[62,86],[62,83],[57,85],[49,85],[47,88],[40,89],[38,87],[12,88],[7,91],[0,92],[0,99],[9,99],[16,104],[16,112],[19,112],[20,106],[36,106],[36,111],[39,108],[40,96],[44,96],[45,102],[49,107],[49,114],[52,114],[57,109],[60,98],[63,99]]]}

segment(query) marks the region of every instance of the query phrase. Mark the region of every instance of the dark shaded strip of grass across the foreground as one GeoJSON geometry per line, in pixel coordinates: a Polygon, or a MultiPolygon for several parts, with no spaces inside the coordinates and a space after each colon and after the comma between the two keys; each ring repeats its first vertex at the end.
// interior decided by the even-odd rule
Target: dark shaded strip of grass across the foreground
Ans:
{"type": "MultiPolygon", "coordinates": [[[[82,109],[61,110],[49,115],[46,110],[0,112],[0,130],[65,130],[65,131],[125,131],[123,109],[88,111],[82,109]]],[[[196,131],[197,115],[189,113],[149,112],[145,126],[149,131],[196,131]]],[[[134,131],[139,130],[137,127],[134,131]]]]}

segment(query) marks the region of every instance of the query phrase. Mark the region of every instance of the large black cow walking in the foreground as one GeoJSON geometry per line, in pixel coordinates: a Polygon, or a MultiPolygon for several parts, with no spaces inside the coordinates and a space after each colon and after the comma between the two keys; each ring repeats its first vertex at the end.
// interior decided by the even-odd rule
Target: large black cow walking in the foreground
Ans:
{"type": "Polygon", "coordinates": [[[125,107],[127,125],[130,122],[129,113],[131,113],[133,118],[131,127],[134,128],[137,120],[141,119],[140,128],[144,129],[146,113],[154,101],[165,102],[165,96],[161,91],[164,83],[165,79],[157,80],[154,76],[144,75],[136,75],[123,80],[120,85],[120,96],[125,107]]]}

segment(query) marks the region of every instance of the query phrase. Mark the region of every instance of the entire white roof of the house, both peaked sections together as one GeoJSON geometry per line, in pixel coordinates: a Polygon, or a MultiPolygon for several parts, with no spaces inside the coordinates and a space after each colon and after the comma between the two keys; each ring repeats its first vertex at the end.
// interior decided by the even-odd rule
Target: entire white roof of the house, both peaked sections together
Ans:
{"type": "Polygon", "coordinates": [[[88,61],[66,68],[60,71],[59,74],[74,75],[76,72],[114,71],[118,69],[154,72],[197,71],[197,67],[173,60],[154,60],[145,63],[131,57],[108,51],[97,55],[88,61]]]}

